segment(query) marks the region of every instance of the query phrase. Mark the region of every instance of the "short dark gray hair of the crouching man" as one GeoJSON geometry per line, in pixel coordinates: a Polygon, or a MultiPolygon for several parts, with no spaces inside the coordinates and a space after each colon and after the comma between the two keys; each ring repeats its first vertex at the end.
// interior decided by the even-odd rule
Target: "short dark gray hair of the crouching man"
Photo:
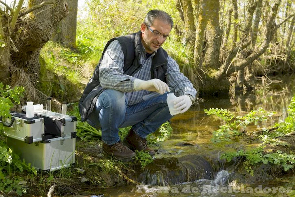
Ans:
{"type": "Polygon", "coordinates": [[[159,10],[159,9],[150,10],[148,12],[148,14],[146,15],[145,20],[143,21],[143,23],[145,23],[148,26],[151,26],[151,25],[153,25],[155,19],[160,19],[162,21],[167,22],[168,24],[171,25],[171,29],[172,29],[172,27],[173,27],[173,19],[172,19],[172,17],[167,12],[164,12],[164,11],[159,10]]]}

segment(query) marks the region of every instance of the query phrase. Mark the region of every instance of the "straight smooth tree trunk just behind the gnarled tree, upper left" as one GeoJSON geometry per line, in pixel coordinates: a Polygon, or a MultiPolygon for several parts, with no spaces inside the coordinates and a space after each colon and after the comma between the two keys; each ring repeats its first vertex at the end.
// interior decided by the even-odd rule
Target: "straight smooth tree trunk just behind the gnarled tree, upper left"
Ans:
{"type": "Polygon", "coordinates": [[[67,3],[69,14],[59,22],[58,27],[53,33],[52,40],[74,50],[77,48],[76,29],[78,0],[68,0],[67,3]]]}

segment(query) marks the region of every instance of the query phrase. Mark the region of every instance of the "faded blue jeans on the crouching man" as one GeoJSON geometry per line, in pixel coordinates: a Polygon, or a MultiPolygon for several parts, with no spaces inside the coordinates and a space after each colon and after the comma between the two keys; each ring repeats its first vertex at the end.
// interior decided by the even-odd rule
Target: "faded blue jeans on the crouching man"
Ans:
{"type": "Polygon", "coordinates": [[[101,129],[101,139],[108,145],[119,142],[119,128],[127,126],[146,138],[172,117],[166,99],[167,93],[127,107],[124,92],[106,89],[99,95],[87,121],[101,129]]]}

